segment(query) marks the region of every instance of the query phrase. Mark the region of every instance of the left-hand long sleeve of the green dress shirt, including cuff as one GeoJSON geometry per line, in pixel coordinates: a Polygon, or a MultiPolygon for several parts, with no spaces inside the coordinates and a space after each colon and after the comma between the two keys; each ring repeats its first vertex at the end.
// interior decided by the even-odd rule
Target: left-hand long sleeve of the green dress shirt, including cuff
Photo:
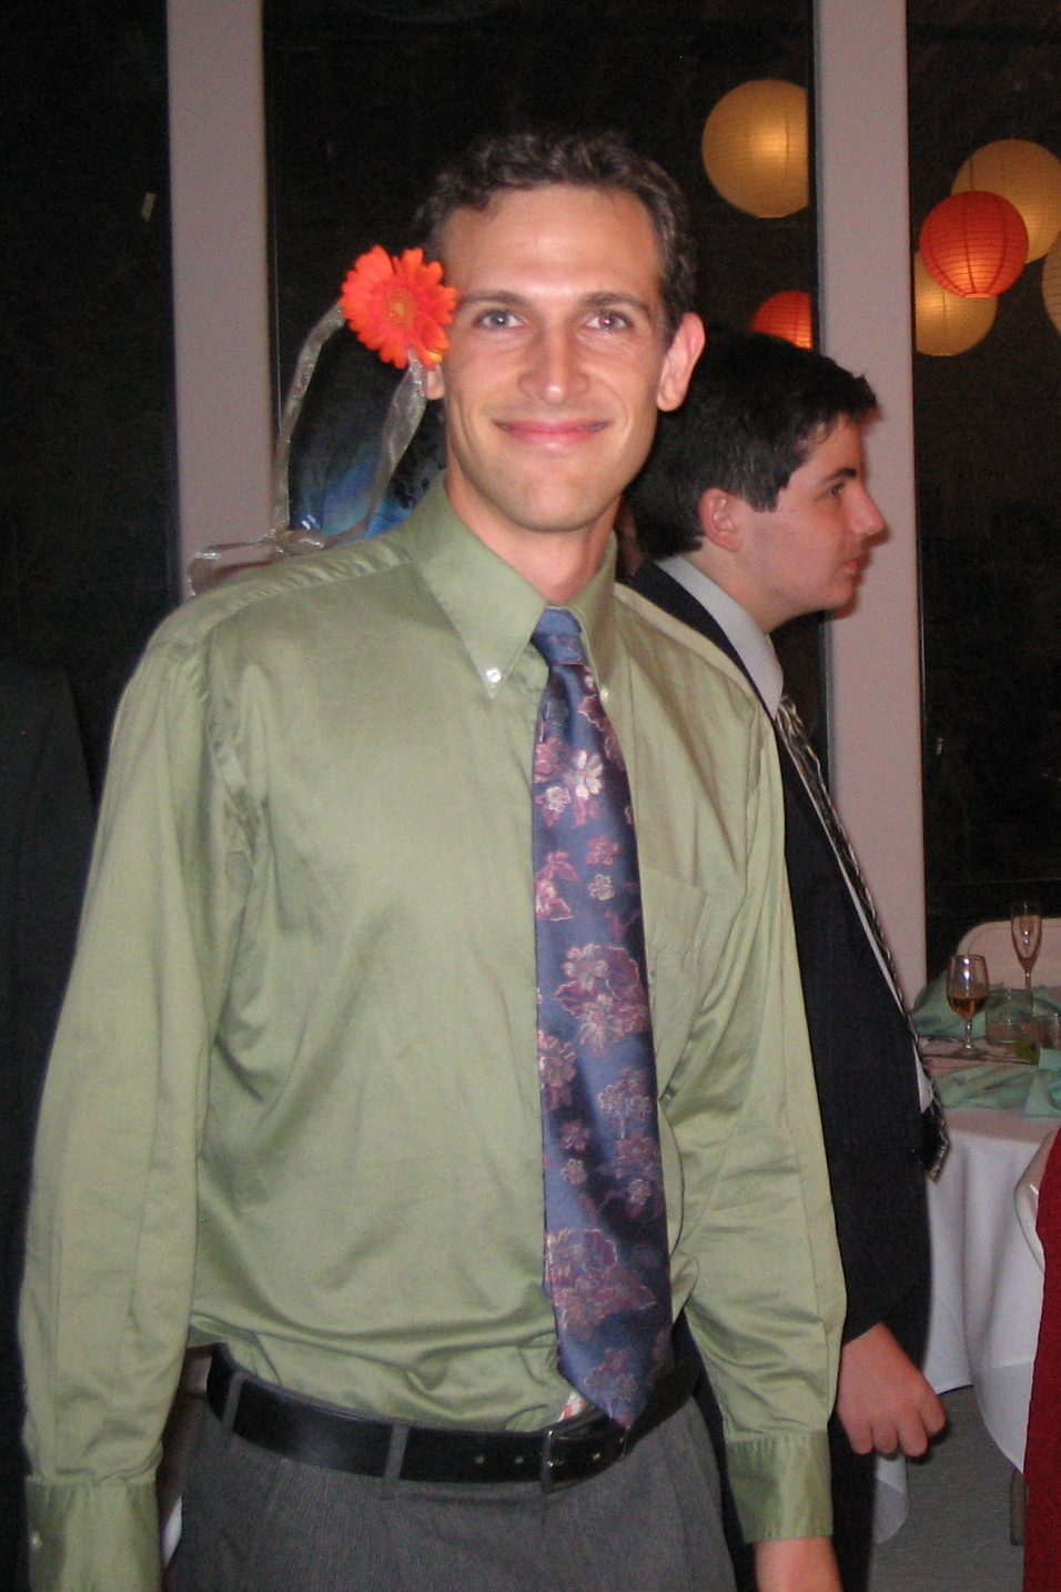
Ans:
{"type": "Polygon", "coordinates": [[[118,716],[35,1153],[21,1331],[38,1592],[159,1581],[154,1469],[247,872],[235,788],[194,651],[156,640],[118,716]]]}

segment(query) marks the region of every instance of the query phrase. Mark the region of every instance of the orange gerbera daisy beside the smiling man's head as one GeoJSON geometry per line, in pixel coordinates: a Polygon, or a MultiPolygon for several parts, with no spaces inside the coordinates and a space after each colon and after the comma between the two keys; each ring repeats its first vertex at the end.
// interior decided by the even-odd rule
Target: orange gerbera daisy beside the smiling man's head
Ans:
{"type": "Polygon", "coordinates": [[[442,266],[425,263],[422,248],[388,255],[375,244],[347,274],[340,302],[361,342],[399,371],[409,350],[423,365],[437,365],[450,345],[442,326],[453,318],[457,288],[442,287],[442,266]]]}

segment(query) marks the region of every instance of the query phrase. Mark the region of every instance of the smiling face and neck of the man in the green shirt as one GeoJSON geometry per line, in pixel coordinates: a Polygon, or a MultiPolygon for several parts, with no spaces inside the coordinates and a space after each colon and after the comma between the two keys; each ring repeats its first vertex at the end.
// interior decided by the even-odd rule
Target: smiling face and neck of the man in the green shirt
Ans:
{"type": "Polygon", "coordinates": [[[652,221],[624,191],[504,191],[450,217],[444,256],[458,306],[428,395],[445,401],[450,501],[534,584],[576,548],[589,579],[700,322],[668,345],[652,221]]]}

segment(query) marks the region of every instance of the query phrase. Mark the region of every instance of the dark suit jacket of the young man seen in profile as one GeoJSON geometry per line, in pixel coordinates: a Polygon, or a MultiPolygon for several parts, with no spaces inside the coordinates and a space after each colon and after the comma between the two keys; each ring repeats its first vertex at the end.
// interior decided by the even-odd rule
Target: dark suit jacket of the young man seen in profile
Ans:
{"type": "MultiPolygon", "coordinates": [[[[646,560],[632,584],[748,675],[717,621],[665,570],[646,560]]],[[[845,1339],[886,1321],[919,1360],[929,1248],[910,1027],[779,737],[778,750],[795,942],[848,1290],[845,1339]]]]}

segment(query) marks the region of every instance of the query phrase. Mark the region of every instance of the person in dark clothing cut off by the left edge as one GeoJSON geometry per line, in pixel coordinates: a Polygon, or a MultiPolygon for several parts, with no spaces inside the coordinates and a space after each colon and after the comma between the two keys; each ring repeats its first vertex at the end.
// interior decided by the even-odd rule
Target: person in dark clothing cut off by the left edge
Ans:
{"type": "Polygon", "coordinates": [[[0,659],[0,1586],[29,1587],[16,1305],[33,1124],[78,927],[92,802],[59,672],[0,659]]]}

